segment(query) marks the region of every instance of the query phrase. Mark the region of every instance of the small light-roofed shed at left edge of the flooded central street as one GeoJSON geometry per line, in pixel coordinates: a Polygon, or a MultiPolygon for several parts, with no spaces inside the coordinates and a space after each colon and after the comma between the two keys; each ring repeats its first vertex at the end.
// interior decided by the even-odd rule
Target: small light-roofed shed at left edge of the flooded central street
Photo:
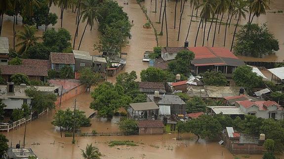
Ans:
{"type": "Polygon", "coordinates": [[[107,75],[113,77],[119,73],[125,66],[126,60],[121,58],[112,58],[110,60],[110,67],[107,68],[107,75]]]}

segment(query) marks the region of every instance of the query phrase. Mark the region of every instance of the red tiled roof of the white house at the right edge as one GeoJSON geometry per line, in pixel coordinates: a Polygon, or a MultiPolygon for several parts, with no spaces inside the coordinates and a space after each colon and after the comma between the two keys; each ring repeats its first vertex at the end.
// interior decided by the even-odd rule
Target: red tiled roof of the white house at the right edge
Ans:
{"type": "Polygon", "coordinates": [[[242,105],[245,108],[248,108],[252,105],[256,105],[259,110],[267,110],[267,107],[276,105],[278,109],[282,110],[282,107],[275,101],[267,100],[267,101],[250,101],[250,100],[244,100],[244,101],[236,101],[240,105],[242,105]]]}

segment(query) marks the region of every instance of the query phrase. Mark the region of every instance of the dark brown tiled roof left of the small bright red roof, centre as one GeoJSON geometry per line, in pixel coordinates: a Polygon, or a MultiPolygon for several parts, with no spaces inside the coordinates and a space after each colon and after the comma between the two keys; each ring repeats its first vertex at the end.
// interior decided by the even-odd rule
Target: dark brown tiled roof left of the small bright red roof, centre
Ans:
{"type": "Polygon", "coordinates": [[[138,82],[139,91],[142,93],[154,94],[155,91],[165,93],[165,86],[162,82],[138,82]]]}

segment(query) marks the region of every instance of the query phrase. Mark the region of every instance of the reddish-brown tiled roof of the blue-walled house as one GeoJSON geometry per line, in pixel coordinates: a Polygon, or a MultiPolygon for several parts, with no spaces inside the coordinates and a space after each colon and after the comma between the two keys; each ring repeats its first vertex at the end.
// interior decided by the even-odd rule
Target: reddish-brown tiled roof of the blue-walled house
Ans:
{"type": "Polygon", "coordinates": [[[75,64],[74,54],[71,53],[50,53],[52,64],[75,64]]]}

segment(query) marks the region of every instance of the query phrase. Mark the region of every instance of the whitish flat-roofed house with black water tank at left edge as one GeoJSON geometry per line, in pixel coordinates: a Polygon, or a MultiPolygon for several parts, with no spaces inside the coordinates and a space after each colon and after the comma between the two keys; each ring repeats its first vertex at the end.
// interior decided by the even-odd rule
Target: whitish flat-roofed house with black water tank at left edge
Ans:
{"type": "MultiPolygon", "coordinates": [[[[7,85],[0,85],[0,99],[7,105],[4,107],[7,111],[21,108],[23,103],[31,104],[32,97],[25,94],[25,90],[30,88],[25,84],[14,85],[13,82],[8,82],[7,85]]],[[[45,94],[56,94],[58,95],[58,87],[56,86],[33,86],[38,91],[45,94]]]]}

